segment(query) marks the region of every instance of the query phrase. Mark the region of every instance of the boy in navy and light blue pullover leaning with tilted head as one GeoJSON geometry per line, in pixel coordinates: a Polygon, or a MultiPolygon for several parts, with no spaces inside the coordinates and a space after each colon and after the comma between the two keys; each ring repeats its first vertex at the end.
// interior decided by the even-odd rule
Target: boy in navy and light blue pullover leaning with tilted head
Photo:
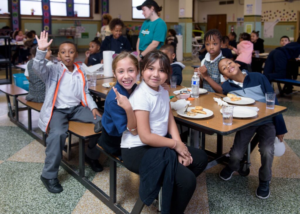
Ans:
{"type": "MultiPolygon", "coordinates": [[[[230,59],[222,59],[219,62],[220,73],[228,81],[222,85],[223,94],[235,94],[241,97],[250,97],[256,101],[265,103],[265,93],[272,92],[273,88],[269,81],[260,73],[248,73],[247,70],[240,70],[240,65],[230,59]]],[[[277,98],[275,104],[279,105],[277,98]]],[[[248,128],[242,129],[235,134],[233,146],[230,149],[230,160],[228,165],[220,171],[220,178],[229,180],[234,171],[238,171],[248,144],[255,134],[258,135],[261,167],[259,168],[259,186],[256,189],[258,198],[268,198],[270,195],[270,181],[272,177],[271,167],[274,158],[275,136],[282,142],[287,132],[282,114],[269,120],[265,120],[248,128]]]]}

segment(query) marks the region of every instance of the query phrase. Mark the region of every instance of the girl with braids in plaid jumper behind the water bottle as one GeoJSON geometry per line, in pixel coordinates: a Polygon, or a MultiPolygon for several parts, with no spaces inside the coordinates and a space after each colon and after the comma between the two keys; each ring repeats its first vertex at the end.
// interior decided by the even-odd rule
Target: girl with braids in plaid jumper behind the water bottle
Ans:
{"type": "Polygon", "coordinates": [[[211,29],[204,34],[204,44],[207,50],[201,66],[194,69],[200,78],[200,88],[209,92],[222,93],[218,63],[223,58],[221,47],[223,45],[222,34],[217,29],[211,29]]]}

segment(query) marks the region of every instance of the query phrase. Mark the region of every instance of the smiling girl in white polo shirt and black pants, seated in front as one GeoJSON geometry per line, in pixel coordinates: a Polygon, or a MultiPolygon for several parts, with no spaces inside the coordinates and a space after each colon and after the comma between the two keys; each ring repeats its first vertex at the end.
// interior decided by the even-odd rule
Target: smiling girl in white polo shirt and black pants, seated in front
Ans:
{"type": "Polygon", "coordinates": [[[125,131],[121,149],[125,166],[139,174],[144,154],[153,147],[174,149],[179,164],[174,176],[171,213],[183,213],[196,188],[196,177],[207,165],[203,150],[186,147],[181,141],[167,91],[161,87],[171,76],[166,54],[153,50],[143,59],[143,81],[131,94],[129,101],[137,120],[138,135],[125,131]],[[172,136],[166,137],[167,134],[172,136]],[[188,181],[188,182],[187,182],[188,181]]]}

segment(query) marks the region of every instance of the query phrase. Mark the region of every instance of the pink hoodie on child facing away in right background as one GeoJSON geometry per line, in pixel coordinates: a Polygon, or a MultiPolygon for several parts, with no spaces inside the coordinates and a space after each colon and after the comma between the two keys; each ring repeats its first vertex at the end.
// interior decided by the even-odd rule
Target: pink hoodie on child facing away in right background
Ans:
{"type": "Polygon", "coordinates": [[[235,60],[251,64],[253,52],[253,43],[251,41],[241,41],[238,43],[237,49],[233,48],[233,51],[238,55],[235,60]]]}

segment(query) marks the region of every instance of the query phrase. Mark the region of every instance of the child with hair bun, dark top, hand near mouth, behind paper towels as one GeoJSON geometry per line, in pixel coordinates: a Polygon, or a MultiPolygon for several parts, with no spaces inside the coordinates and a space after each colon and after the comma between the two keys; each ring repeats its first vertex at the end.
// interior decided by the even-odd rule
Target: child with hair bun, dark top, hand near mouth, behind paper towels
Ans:
{"type": "Polygon", "coordinates": [[[84,64],[90,66],[101,63],[100,46],[101,44],[98,40],[98,37],[95,37],[95,39],[90,42],[90,47],[88,51],[85,52],[84,64]]]}

